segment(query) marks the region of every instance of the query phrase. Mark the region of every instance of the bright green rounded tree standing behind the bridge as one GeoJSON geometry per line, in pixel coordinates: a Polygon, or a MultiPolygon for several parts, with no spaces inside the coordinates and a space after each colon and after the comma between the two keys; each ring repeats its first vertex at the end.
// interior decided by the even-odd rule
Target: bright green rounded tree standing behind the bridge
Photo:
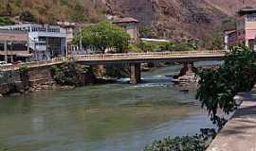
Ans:
{"type": "Polygon", "coordinates": [[[123,52],[128,48],[130,36],[117,25],[101,22],[84,27],[75,42],[80,39],[87,46],[93,46],[104,54],[106,49],[123,52]]]}

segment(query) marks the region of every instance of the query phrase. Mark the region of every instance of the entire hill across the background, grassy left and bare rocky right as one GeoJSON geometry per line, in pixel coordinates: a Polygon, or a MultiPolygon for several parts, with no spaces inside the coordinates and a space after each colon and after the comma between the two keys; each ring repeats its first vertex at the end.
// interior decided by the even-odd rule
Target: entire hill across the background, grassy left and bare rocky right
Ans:
{"type": "Polygon", "coordinates": [[[13,18],[28,11],[37,22],[96,23],[104,19],[106,13],[122,17],[131,16],[140,21],[142,28],[152,30],[153,32],[148,34],[152,37],[175,40],[196,38],[202,40],[205,45],[212,44],[214,38],[217,38],[216,42],[220,42],[221,31],[234,26],[232,18],[238,8],[256,7],[256,0],[0,0],[0,2],[0,17],[13,18]]]}

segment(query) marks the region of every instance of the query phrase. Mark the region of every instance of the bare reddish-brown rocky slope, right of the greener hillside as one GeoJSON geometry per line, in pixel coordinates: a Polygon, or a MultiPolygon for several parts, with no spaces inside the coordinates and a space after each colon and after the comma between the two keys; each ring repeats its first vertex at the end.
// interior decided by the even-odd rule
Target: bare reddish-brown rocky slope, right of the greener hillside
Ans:
{"type": "Polygon", "coordinates": [[[238,8],[256,6],[256,0],[108,0],[108,12],[132,16],[160,37],[197,38],[210,45],[221,41],[221,31],[234,27],[238,8]],[[208,42],[209,43],[208,43],[208,42]]]}

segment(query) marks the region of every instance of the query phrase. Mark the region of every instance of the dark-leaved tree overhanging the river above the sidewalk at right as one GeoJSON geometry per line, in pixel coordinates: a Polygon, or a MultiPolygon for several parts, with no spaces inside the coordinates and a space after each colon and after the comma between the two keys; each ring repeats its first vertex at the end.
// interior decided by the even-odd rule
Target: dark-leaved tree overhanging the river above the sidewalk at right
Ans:
{"type": "Polygon", "coordinates": [[[224,60],[218,69],[198,72],[201,79],[196,98],[218,126],[223,121],[218,117],[218,110],[229,114],[236,109],[233,97],[237,92],[250,91],[256,81],[256,52],[247,47],[234,47],[224,60]]]}

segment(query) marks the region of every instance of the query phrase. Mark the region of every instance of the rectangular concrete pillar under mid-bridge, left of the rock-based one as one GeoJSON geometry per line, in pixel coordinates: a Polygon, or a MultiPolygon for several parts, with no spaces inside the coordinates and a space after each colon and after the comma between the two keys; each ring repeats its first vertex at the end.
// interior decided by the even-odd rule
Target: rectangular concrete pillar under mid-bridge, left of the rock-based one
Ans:
{"type": "Polygon", "coordinates": [[[139,83],[141,81],[140,63],[131,63],[130,70],[130,83],[139,83]]]}

